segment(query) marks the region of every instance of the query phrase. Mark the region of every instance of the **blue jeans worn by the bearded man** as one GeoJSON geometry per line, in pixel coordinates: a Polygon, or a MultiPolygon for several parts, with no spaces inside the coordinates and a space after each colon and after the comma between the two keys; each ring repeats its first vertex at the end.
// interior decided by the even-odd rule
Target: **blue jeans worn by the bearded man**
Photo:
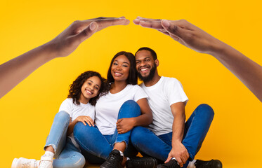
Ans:
{"type": "MultiPolygon", "coordinates": [[[[194,160],[201,148],[213,118],[213,109],[207,104],[201,104],[185,123],[182,144],[188,150],[189,161],[194,160]]],[[[142,155],[150,155],[162,161],[167,159],[171,151],[171,142],[172,132],[157,136],[148,128],[134,127],[131,133],[131,143],[142,155]]],[[[184,167],[187,166],[188,162],[184,167]]]]}

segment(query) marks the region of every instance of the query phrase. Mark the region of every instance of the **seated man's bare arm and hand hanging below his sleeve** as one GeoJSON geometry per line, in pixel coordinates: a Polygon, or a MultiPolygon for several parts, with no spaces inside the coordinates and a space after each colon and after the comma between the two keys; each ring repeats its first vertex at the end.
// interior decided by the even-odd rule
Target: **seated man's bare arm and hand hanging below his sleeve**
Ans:
{"type": "Polygon", "coordinates": [[[171,158],[176,158],[178,164],[183,167],[183,164],[185,164],[189,158],[188,150],[182,144],[185,127],[185,104],[183,102],[178,102],[172,104],[170,107],[173,114],[172,149],[166,162],[169,162],[171,158]]]}

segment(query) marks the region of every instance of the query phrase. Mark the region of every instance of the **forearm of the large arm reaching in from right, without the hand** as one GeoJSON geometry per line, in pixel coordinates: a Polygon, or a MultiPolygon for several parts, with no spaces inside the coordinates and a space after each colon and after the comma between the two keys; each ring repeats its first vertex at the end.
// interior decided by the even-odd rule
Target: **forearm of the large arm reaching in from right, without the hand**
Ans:
{"type": "Polygon", "coordinates": [[[262,66],[221,41],[209,54],[237,76],[262,102],[262,66]]]}

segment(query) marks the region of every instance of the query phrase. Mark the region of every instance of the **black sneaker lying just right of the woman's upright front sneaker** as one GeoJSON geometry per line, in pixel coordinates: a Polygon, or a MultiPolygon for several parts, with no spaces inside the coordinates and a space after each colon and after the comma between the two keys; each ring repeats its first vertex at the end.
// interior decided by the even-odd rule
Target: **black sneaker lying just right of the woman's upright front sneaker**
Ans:
{"type": "Polygon", "coordinates": [[[152,157],[136,157],[126,161],[126,168],[156,168],[157,159],[152,157]]]}

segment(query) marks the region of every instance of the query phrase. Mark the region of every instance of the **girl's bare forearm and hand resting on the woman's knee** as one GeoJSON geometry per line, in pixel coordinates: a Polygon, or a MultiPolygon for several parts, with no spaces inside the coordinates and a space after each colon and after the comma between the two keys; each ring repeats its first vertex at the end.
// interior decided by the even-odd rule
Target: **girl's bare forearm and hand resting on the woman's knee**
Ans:
{"type": "Polygon", "coordinates": [[[75,120],[73,120],[73,122],[72,118],[70,118],[70,124],[67,128],[67,136],[70,136],[70,134],[72,134],[72,132],[74,131],[74,125],[76,125],[78,122],[82,122],[84,125],[86,125],[87,123],[90,127],[95,126],[92,118],[89,116],[78,116],[75,120]]]}

